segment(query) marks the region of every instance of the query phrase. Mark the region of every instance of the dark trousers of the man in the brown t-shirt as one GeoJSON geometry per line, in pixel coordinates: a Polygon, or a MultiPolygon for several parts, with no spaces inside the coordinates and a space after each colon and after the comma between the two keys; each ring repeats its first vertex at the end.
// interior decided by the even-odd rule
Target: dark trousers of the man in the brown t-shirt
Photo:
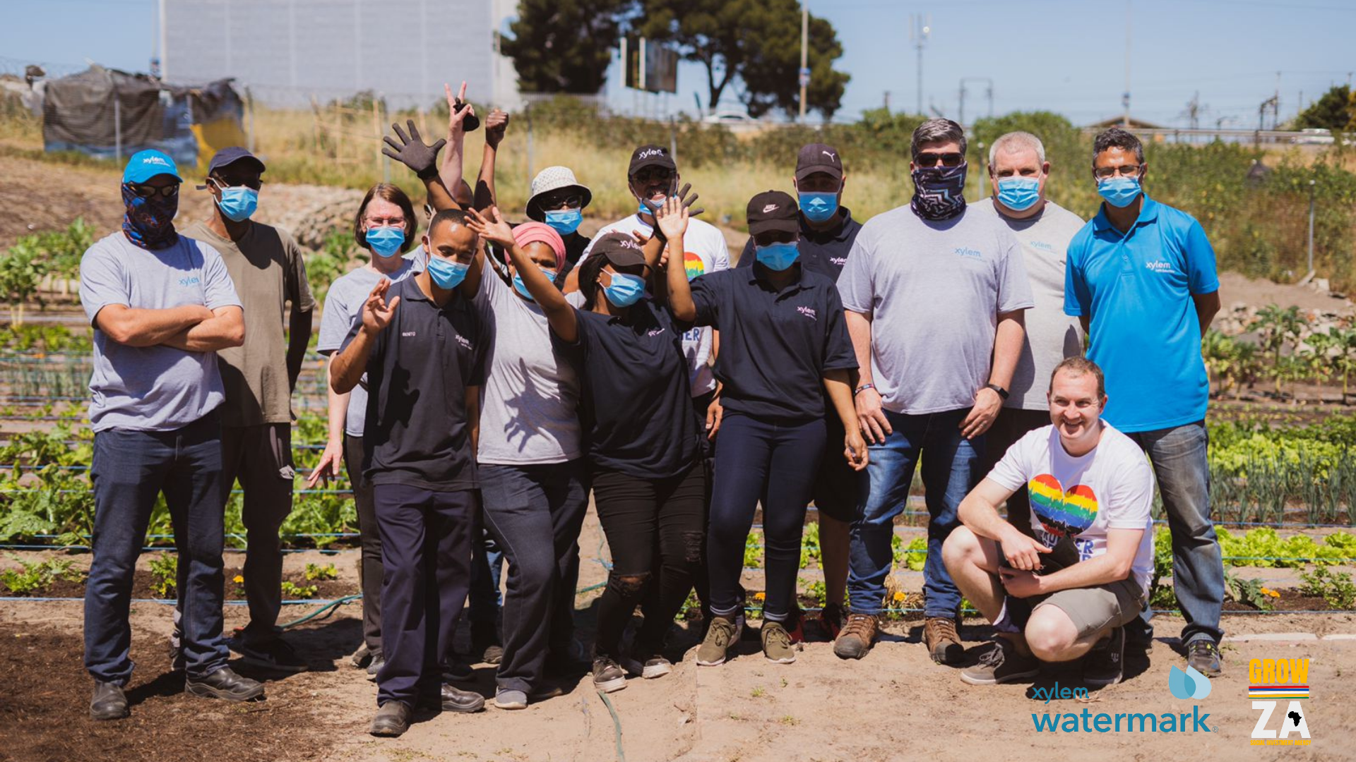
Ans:
{"type": "Polygon", "coordinates": [[[240,480],[240,521],[245,525],[245,637],[278,637],[282,609],[282,522],[292,513],[292,424],[224,426],[221,428],[222,506],[240,480]]]}

